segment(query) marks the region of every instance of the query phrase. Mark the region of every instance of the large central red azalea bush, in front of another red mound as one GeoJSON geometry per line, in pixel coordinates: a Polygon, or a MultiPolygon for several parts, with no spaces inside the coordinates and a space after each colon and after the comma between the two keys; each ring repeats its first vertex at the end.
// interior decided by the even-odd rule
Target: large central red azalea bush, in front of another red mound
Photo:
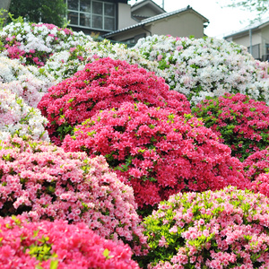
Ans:
{"type": "Polygon", "coordinates": [[[65,151],[102,154],[119,177],[134,188],[140,208],[179,191],[204,191],[247,179],[230,148],[196,117],[173,110],[123,103],[106,109],[66,135],[65,151]]]}

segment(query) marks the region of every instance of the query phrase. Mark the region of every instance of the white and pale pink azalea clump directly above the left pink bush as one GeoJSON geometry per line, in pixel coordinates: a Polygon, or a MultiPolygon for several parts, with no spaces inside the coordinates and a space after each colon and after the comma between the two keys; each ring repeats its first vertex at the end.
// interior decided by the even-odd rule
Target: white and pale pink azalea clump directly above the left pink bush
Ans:
{"type": "Polygon", "coordinates": [[[0,89],[0,140],[18,134],[49,141],[47,123],[38,108],[31,108],[12,91],[0,89]]]}

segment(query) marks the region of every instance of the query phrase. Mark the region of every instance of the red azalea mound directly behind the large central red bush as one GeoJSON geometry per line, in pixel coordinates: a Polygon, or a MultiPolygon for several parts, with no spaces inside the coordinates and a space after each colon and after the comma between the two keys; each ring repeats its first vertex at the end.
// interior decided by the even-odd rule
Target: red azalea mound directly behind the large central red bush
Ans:
{"type": "Polygon", "coordinates": [[[85,66],[73,77],[48,89],[38,108],[48,117],[48,134],[60,143],[73,126],[106,108],[118,108],[124,101],[148,106],[175,108],[190,113],[187,98],[169,91],[164,79],[126,61],[101,58],[85,66]]]}

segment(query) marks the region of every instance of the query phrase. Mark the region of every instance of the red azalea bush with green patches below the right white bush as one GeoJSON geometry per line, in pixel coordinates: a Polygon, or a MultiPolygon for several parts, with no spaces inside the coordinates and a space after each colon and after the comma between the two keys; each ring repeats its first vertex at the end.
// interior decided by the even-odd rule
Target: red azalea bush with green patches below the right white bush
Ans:
{"type": "Polygon", "coordinates": [[[197,104],[192,112],[202,117],[204,126],[230,146],[231,154],[244,161],[269,145],[269,107],[247,95],[226,93],[197,104]]]}

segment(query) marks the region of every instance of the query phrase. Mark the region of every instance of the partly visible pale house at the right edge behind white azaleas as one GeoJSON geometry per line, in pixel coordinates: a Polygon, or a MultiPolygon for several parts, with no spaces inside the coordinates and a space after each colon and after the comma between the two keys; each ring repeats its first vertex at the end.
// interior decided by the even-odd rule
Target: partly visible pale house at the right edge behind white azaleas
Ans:
{"type": "Polygon", "coordinates": [[[256,22],[250,26],[233,32],[223,37],[227,41],[233,41],[239,45],[247,47],[248,52],[254,58],[268,61],[269,60],[269,19],[256,22]]]}

